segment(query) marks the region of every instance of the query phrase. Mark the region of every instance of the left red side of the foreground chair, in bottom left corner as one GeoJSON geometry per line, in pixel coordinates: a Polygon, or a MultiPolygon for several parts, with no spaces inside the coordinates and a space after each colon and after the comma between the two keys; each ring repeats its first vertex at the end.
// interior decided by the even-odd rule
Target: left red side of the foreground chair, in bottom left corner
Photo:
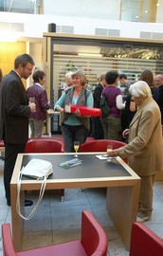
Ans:
{"type": "Polygon", "coordinates": [[[1,229],[4,256],[17,256],[12,243],[10,225],[2,224],[1,229]]]}

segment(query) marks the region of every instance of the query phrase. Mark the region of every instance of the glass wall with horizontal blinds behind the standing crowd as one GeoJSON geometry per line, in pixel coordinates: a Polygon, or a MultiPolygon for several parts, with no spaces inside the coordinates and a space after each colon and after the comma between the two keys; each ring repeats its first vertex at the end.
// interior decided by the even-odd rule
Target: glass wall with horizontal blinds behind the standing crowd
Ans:
{"type": "MultiPolygon", "coordinates": [[[[162,44],[147,42],[115,41],[91,38],[75,38],[67,35],[51,39],[51,101],[61,96],[65,87],[65,74],[72,70],[82,70],[89,87],[94,90],[102,72],[117,70],[136,82],[144,69],[154,74],[163,73],[162,44]]],[[[56,133],[56,120],[52,133],[56,133]],[[55,127],[55,128],[54,128],[55,127]]]]}

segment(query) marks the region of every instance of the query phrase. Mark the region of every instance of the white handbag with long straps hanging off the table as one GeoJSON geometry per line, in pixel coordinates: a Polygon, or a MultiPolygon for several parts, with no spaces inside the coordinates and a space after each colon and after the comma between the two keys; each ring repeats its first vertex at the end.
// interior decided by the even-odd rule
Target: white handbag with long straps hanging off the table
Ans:
{"type": "Polygon", "coordinates": [[[26,167],[23,167],[22,170],[20,171],[18,175],[18,180],[17,180],[16,210],[24,220],[31,219],[34,213],[36,212],[45,193],[46,179],[50,174],[53,174],[52,164],[48,161],[45,161],[42,159],[36,159],[36,158],[31,159],[27,163],[26,167]],[[21,213],[21,208],[20,208],[20,191],[21,191],[21,181],[22,181],[23,175],[30,178],[35,178],[37,180],[42,180],[38,201],[35,207],[33,208],[33,210],[31,210],[31,212],[28,214],[27,217],[21,213]]]}

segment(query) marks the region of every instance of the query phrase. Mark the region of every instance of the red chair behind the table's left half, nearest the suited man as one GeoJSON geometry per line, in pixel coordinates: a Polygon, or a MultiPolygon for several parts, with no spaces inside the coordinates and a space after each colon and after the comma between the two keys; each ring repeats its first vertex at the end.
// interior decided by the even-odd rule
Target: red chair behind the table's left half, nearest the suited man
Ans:
{"type": "MultiPolygon", "coordinates": [[[[25,153],[61,153],[63,143],[53,138],[34,138],[27,141],[25,153]]],[[[61,201],[64,200],[64,189],[61,190],[61,201]]]]}

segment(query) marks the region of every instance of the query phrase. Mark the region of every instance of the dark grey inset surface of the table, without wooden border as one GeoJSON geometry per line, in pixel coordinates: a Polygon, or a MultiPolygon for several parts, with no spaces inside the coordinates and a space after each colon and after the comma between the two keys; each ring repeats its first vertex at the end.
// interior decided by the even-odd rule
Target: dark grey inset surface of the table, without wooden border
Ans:
{"type": "Polygon", "coordinates": [[[44,159],[52,163],[53,174],[50,175],[50,179],[131,176],[117,159],[108,162],[100,160],[96,155],[79,155],[81,165],[67,170],[59,165],[74,159],[74,155],[24,155],[22,167],[26,166],[32,158],[44,159]]]}

